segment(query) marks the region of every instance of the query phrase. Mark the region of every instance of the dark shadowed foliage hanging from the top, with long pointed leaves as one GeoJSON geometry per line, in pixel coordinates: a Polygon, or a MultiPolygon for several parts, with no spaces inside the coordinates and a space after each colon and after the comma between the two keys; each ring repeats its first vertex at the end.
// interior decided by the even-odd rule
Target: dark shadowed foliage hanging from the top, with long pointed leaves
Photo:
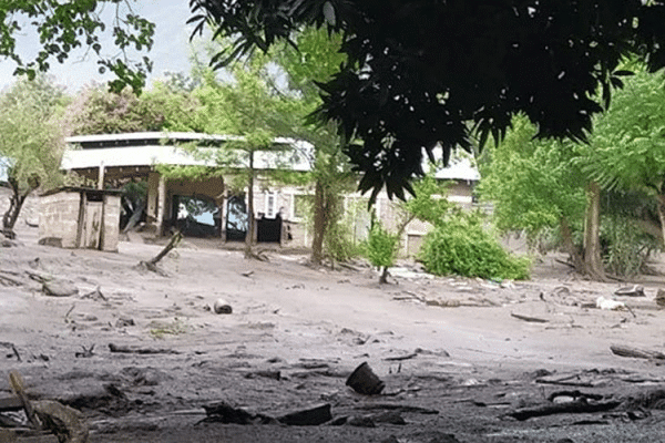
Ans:
{"type": "Polygon", "coordinates": [[[665,66],[662,0],[192,0],[191,9],[196,32],[233,39],[215,68],[303,25],[344,35],[347,59],[320,85],[319,115],[339,123],[372,197],[383,185],[403,197],[423,174],[423,151],[440,144],[448,159],[474,131],[481,145],[499,140],[518,112],[539,136],[583,141],[622,84],[623,55],[665,66]]]}

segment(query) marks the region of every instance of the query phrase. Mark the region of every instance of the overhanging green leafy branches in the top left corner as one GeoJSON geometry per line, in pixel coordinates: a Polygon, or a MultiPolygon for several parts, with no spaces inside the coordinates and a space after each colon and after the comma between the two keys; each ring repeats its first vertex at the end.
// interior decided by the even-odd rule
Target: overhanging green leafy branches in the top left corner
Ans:
{"type": "MultiPolygon", "coordinates": [[[[49,70],[53,59],[62,63],[75,48],[84,47],[98,55],[100,72],[106,70],[116,76],[110,83],[120,92],[130,85],[135,91],[143,87],[152,63],[147,58],[132,61],[129,50],[150,50],[153,44],[154,23],[132,10],[134,0],[12,0],[0,4],[0,58],[17,64],[14,74],[34,79],[38,72],[49,70]],[[112,23],[102,17],[104,6],[114,8],[112,23]],[[124,6],[123,10],[121,7],[124,6]],[[106,25],[112,27],[113,44],[120,55],[106,56],[100,37],[106,25]],[[17,37],[39,40],[40,50],[33,60],[25,62],[18,52],[17,37]]],[[[19,39],[20,41],[20,39],[19,39]]]]}

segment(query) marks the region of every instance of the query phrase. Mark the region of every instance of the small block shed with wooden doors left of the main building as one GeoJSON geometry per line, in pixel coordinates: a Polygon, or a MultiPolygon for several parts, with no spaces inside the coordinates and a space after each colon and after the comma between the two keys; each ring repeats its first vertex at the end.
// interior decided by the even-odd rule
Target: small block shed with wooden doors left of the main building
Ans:
{"type": "Polygon", "coordinates": [[[121,190],[61,187],[40,197],[39,243],[117,251],[121,190]]]}

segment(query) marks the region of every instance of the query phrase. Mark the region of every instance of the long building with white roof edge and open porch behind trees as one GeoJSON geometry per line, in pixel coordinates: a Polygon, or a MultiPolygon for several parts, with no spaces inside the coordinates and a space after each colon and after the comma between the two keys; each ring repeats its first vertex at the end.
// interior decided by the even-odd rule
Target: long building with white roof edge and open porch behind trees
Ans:
{"type": "MultiPolygon", "coordinates": [[[[147,184],[144,223],[155,235],[164,235],[177,227],[185,235],[219,237],[242,240],[246,231],[246,190],[237,185],[237,177],[248,167],[247,155],[234,148],[242,137],[197,133],[131,133],[85,135],[68,138],[62,168],[85,177],[98,188],[117,188],[127,181],[147,184]],[[196,146],[197,152],[190,150],[196,146]],[[225,175],[202,175],[201,178],[166,178],[160,171],[178,166],[218,171],[219,155],[225,162],[225,175]]],[[[256,240],[283,245],[308,246],[311,233],[307,228],[304,204],[310,192],[270,179],[270,172],[288,169],[295,173],[310,171],[311,145],[276,138],[275,150],[257,152],[254,168],[254,208],[257,218],[256,240]]],[[[456,182],[450,199],[471,205],[472,186],[478,172],[467,159],[453,163],[452,168],[437,172],[437,178],[456,182]]],[[[351,206],[365,208],[367,199],[359,194],[345,196],[347,212],[351,206]]],[[[377,215],[390,229],[397,223],[396,208],[385,194],[376,204],[377,215]]],[[[369,216],[359,210],[355,234],[365,238],[369,216]]],[[[412,223],[406,230],[406,253],[411,254],[418,238],[427,233],[423,224],[412,223]],[[410,239],[410,240],[409,240],[410,239]],[[411,245],[411,246],[409,246],[411,245]]]]}

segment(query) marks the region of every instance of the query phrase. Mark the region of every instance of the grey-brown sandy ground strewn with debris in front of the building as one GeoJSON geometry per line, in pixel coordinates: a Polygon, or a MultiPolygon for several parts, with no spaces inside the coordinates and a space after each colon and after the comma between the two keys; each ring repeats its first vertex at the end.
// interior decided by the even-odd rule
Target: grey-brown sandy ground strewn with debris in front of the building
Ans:
{"type": "MultiPolygon", "coordinates": [[[[24,223],[34,214],[18,245],[0,248],[0,398],[17,370],[32,399],[81,410],[91,442],[654,442],[665,432],[661,361],[611,351],[665,352],[654,301],[665,278],[591,282],[549,257],[530,281],[433,278],[403,262],[379,286],[361,262],[313,269],[287,251],[247,261],[201,240],[171,253],[160,276],[136,266],[160,245],[39,246],[24,223]],[[47,296],[43,278],[78,293],[47,296]],[[613,296],[634,282],[646,297],[613,296]],[[596,309],[601,296],[631,310],[596,309]],[[233,313],[214,313],[217,298],[233,313]],[[362,362],[386,383],[380,395],[345,385],[362,362]],[[511,416],[575,398],[618,405],[511,416]],[[270,418],[327,404],[332,421],[225,424],[204,409],[221,401],[270,418]]],[[[2,415],[23,423],[19,441],[57,441],[24,431],[22,413],[2,415]]]]}

